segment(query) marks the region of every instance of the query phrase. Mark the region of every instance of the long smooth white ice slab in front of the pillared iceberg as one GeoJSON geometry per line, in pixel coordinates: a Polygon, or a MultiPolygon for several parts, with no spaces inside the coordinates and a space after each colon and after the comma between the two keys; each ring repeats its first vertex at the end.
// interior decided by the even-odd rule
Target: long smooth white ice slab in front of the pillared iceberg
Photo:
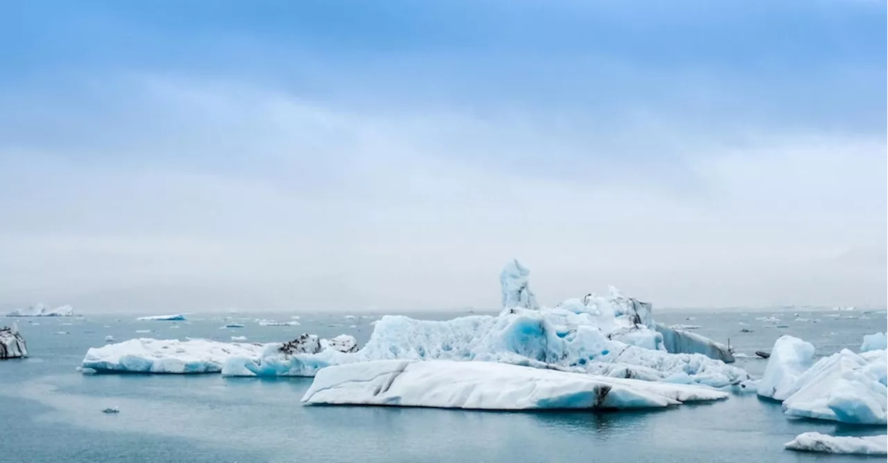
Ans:
{"type": "Polygon", "coordinates": [[[321,370],[302,401],[474,410],[638,409],[726,396],[710,388],[517,365],[380,360],[321,370]]]}

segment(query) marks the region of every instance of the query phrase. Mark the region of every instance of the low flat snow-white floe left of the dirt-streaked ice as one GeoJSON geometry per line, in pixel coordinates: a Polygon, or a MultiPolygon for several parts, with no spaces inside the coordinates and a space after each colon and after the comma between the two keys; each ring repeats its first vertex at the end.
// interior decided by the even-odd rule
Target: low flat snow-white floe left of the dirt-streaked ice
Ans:
{"type": "Polygon", "coordinates": [[[229,357],[261,350],[257,344],[140,338],[89,349],[81,366],[98,372],[219,373],[229,357]]]}

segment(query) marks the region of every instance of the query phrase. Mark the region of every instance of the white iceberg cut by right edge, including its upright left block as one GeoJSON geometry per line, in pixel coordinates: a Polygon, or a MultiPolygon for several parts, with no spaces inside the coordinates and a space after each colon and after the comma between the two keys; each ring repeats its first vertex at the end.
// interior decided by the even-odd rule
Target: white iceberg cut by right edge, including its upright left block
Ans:
{"type": "Polygon", "coordinates": [[[843,349],[813,363],[810,344],[787,338],[774,345],[781,355],[768,360],[762,384],[772,386],[760,384],[760,395],[782,400],[791,417],[888,424],[888,350],[855,354],[843,349]]]}

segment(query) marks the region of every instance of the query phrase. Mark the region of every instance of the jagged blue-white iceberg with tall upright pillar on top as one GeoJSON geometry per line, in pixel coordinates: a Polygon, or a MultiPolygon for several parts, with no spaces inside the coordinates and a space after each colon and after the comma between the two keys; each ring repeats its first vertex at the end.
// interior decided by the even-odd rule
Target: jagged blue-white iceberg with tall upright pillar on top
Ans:
{"type": "Polygon", "coordinates": [[[281,353],[270,348],[261,357],[232,358],[223,373],[311,376],[329,365],[406,359],[499,362],[713,387],[749,379],[746,372],[702,354],[669,353],[654,329],[650,304],[613,287],[607,296],[588,294],[551,309],[527,309],[523,306],[536,305],[527,273],[518,262],[506,265],[503,302],[516,305],[506,305],[496,317],[434,321],[385,316],[356,352],[281,353]]]}

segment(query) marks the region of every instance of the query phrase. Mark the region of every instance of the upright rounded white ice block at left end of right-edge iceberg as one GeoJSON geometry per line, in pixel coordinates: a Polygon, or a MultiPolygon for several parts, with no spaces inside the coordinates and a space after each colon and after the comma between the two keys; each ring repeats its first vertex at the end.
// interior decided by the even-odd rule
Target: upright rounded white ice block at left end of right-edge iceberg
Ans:
{"type": "Polygon", "coordinates": [[[786,400],[795,391],[798,377],[813,365],[814,346],[789,335],[782,335],[771,350],[765,374],[758,383],[759,396],[786,400]]]}

